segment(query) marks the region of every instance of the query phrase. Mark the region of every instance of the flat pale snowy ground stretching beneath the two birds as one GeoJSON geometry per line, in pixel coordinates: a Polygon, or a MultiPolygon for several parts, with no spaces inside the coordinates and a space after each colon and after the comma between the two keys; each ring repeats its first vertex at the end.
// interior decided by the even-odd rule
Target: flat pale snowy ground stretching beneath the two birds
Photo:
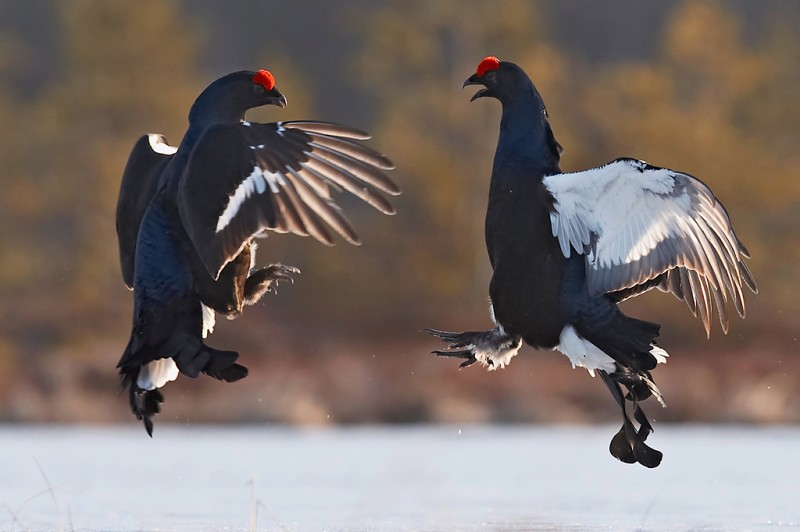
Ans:
{"type": "Polygon", "coordinates": [[[800,529],[800,428],[0,427],[0,530],[800,529]]]}

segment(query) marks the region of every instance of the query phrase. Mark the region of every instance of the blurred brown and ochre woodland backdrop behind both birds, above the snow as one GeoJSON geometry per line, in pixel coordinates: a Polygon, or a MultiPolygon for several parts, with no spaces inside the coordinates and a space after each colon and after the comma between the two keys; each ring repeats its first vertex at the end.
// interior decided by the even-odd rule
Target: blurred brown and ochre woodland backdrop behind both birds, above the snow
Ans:
{"type": "MultiPolygon", "coordinates": [[[[760,294],[706,340],[670,296],[626,303],[663,325],[659,421],[800,421],[800,4],[790,1],[0,0],[0,421],[134,420],[115,365],[130,334],[114,210],[138,137],[174,144],[194,98],[270,69],[285,110],[373,133],[398,214],[341,197],[364,245],[274,235],[263,263],[303,274],[209,344],[228,385],[181,377],[158,422],[598,422],[598,379],[529,348],[459,371],[421,332],[485,329],[483,243],[496,102],[461,84],[486,55],[533,78],[563,169],[620,156],[700,177],[750,249],[760,294]]],[[[542,309],[542,312],[548,312],[542,309]]]]}

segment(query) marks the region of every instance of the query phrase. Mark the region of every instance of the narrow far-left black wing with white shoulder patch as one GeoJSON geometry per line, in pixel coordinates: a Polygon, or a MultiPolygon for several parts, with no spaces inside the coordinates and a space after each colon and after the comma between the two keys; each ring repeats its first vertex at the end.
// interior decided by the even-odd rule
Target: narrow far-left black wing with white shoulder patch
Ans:
{"type": "Polygon", "coordinates": [[[117,238],[122,279],[133,288],[136,238],[144,211],[158,189],[164,167],[177,148],[167,144],[163,135],[143,135],[133,146],[117,199],[117,238]]]}

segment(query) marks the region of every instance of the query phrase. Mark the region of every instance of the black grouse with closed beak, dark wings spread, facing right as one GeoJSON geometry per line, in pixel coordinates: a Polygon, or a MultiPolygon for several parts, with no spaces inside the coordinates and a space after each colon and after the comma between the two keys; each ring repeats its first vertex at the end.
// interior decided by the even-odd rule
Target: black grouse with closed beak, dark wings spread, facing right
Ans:
{"type": "Polygon", "coordinates": [[[204,343],[215,313],[235,318],[299,273],[281,264],[256,268],[254,238],[291,232],[332,245],[331,227],[358,244],[330,189],[394,213],[382,195],[400,193],[382,172],[393,165],[357,142],[368,134],[327,122],[245,120],[248,109],[263,105],[286,106],[270,72],[224,76],[192,105],[180,146],[144,135],[125,167],[117,234],[134,311],[117,367],[151,436],[163,402],[158,388],[178,373],[227,382],[247,376],[238,353],[204,343]]]}

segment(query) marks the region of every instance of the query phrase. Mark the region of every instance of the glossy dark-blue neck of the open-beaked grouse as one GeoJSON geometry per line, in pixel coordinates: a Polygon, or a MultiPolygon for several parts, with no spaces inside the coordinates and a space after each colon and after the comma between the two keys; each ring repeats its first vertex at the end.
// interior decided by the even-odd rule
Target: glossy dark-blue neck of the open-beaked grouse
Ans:
{"type": "Polygon", "coordinates": [[[503,104],[494,175],[524,173],[532,178],[560,172],[558,144],[544,105],[534,94],[503,104]]]}

